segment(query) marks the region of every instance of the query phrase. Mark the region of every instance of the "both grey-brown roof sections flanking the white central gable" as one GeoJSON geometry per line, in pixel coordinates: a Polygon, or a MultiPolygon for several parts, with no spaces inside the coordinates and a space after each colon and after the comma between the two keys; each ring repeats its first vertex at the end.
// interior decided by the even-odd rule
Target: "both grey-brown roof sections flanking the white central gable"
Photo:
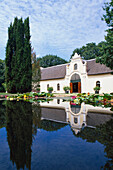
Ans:
{"type": "MultiPolygon", "coordinates": [[[[86,60],[87,67],[86,71],[88,75],[97,75],[97,74],[107,74],[113,72],[109,67],[106,67],[104,64],[96,63],[96,59],[86,60]]],[[[66,65],[57,65],[41,69],[41,80],[51,80],[51,79],[60,79],[64,78],[66,75],[66,65]]]]}

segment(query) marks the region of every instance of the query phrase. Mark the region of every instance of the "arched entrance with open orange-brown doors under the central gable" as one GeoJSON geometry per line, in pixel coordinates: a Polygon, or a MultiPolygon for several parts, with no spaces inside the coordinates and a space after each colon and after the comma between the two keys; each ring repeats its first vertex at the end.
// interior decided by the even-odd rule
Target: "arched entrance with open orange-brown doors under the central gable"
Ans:
{"type": "Polygon", "coordinates": [[[81,79],[78,74],[73,74],[70,80],[70,93],[81,93],[81,79]]]}

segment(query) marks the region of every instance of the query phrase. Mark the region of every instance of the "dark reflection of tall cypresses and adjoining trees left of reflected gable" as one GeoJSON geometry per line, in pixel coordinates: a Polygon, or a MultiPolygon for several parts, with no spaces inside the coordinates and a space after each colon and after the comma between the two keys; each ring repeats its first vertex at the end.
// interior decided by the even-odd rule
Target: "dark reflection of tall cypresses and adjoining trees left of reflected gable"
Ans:
{"type": "Polygon", "coordinates": [[[41,120],[41,107],[24,101],[6,102],[7,141],[10,160],[17,169],[31,169],[31,146],[37,129],[56,131],[67,124],[41,120]]]}

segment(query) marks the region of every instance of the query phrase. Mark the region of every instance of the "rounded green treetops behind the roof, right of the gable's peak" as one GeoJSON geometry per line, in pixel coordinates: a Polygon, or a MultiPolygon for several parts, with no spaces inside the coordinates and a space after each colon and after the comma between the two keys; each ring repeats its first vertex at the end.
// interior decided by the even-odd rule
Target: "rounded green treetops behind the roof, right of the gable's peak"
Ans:
{"type": "Polygon", "coordinates": [[[98,45],[95,43],[88,43],[86,46],[82,46],[81,48],[76,48],[73,51],[73,54],[71,55],[74,56],[75,53],[79,54],[83,59],[89,60],[93,59],[96,57],[101,57],[104,53],[103,51],[103,46],[105,45],[105,42],[102,41],[98,45]]]}

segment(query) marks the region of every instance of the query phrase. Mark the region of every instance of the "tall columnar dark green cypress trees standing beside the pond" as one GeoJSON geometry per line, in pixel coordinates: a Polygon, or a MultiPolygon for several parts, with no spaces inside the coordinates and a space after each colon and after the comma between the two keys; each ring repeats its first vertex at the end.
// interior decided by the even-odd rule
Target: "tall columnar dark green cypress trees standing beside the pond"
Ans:
{"type": "Polygon", "coordinates": [[[31,91],[32,66],[29,18],[17,17],[8,28],[6,87],[10,93],[31,91]]]}

